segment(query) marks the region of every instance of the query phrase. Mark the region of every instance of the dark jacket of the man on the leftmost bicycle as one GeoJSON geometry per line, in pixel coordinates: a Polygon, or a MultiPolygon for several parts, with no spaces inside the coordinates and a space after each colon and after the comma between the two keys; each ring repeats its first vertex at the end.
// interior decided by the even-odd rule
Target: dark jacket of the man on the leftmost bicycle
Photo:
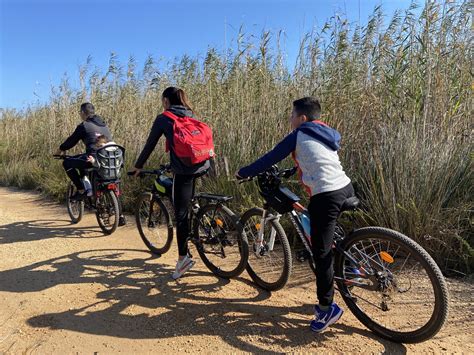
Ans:
{"type": "Polygon", "coordinates": [[[99,116],[92,116],[79,124],[71,136],[59,146],[59,149],[69,150],[82,141],[86,146],[86,153],[93,153],[96,150],[97,137],[101,135],[106,136],[109,141],[112,140],[112,135],[104,120],[99,116]]]}

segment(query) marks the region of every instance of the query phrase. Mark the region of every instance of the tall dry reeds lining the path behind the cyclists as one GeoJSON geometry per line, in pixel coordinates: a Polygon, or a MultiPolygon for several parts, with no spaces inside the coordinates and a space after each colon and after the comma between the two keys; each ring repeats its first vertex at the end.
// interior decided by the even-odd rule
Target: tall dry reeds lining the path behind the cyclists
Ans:
{"type": "MultiPolygon", "coordinates": [[[[343,136],[341,157],[363,197],[360,223],[392,227],[419,241],[444,270],[472,267],[472,33],[469,2],[415,5],[383,25],[379,8],[365,27],[332,18],[301,41],[289,71],[279,36],[260,41],[240,33],[235,50],[210,49],[203,60],[171,63],[133,58],[123,66],[114,54],[104,73],[88,60],[79,89],[67,79],[47,105],[3,111],[0,183],[40,188],[60,197],[66,178],[50,158],[78,123],[78,107],[90,100],[115,140],[127,148],[131,167],[160,108],[160,94],[183,87],[199,116],[215,132],[215,192],[238,203],[256,203],[251,186],[225,176],[271,148],[288,131],[291,101],[316,95],[324,118],[343,136]]],[[[166,160],[159,147],[148,165],[166,160]]],[[[127,202],[137,183],[125,180],[127,202]]]]}

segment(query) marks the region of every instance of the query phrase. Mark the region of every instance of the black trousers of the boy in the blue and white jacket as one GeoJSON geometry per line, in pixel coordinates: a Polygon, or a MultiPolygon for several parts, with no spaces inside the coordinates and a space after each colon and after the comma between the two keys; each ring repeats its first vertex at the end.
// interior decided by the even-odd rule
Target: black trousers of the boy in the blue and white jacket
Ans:
{"type": "Polygon", "coordinates": [[[309,202],[311,244],[316,265],[316,293],[321,306],[329,306],[333,302],[334,230],[343,202],[352,196],[354,196],[354,188],[349,183],[340,190],[314,195],[309,202]]]}

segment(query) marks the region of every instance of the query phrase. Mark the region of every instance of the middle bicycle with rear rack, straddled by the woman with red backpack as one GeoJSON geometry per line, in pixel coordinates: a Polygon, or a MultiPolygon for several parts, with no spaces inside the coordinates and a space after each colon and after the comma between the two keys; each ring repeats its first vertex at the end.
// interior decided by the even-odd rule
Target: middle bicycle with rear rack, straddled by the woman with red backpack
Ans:
{"type": "MultiPolygon", "coordinates": [[[[161,165],[156,170],[141,170],[140,176],[156,176],[151,191],[140,196],[135,219],[138,232],[153,254],[164,254],[173,239],[173,221],[168,211],[172,206],[173,180],[166,174],[170,165],[161,165]]],[[[129,172],[132,175],[133,172],[129,172]]],[[[224,205],[231,196],[197,193],[189,206],[189,223],[192,236],[204,264],[216,276],[231,278],[245,270],[248,258],[248,243],[242,233],[239,218],[224,205]]]]}

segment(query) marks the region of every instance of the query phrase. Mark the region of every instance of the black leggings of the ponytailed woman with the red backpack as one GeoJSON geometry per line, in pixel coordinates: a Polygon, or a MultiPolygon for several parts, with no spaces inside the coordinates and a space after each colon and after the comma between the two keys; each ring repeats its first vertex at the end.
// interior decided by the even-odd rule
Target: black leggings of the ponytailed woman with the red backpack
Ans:
{"type": "Polygon", "coordinates": [[[175,174],[173,178],[173,205],[176,216],[176,237],[180,256],[188,255],[189,203],[194,197],[195,175],[175,174]]]}

